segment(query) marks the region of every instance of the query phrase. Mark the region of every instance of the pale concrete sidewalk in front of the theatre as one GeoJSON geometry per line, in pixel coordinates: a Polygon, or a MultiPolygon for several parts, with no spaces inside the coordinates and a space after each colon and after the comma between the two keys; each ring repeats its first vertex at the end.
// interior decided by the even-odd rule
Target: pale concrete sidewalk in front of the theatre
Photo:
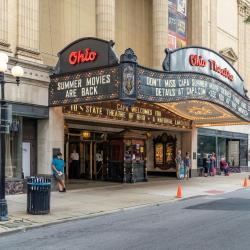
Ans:
{"type": "MultiPolygon", "coordinates": [[[[183,198],[235,191],[242,188],[244,177],[248,175],[239,173],[181,181],[183,198]]],[[[27,214],[26,194],[7,196],[9,221],[0,222],[0,234],[177,200],[178,181],[173,178],[151,177],[149,182],[135,184],[104,182],[102,186],[99,183],[66,193],[52,192],[48,215],[27,214]]]]}

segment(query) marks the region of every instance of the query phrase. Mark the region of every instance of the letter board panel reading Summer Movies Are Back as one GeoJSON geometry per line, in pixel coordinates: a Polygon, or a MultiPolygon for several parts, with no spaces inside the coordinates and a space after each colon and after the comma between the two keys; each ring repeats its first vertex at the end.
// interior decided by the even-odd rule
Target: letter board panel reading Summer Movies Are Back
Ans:
{"type": "Polygon", "coordinates": [[[50,77],[49,104],[104,101],[118,98],[119,66],[50,77]]]}

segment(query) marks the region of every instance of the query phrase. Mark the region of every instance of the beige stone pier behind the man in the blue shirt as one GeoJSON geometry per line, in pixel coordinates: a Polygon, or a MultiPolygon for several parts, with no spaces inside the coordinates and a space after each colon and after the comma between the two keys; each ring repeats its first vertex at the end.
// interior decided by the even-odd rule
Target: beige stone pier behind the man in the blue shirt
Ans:
{"type": "Polygon", "coordinates": [[[48,120],[38,120],[37,173],[51,174],[53,148],[64,155],[64,116],[61,107],[50,108],[48,120]]]}

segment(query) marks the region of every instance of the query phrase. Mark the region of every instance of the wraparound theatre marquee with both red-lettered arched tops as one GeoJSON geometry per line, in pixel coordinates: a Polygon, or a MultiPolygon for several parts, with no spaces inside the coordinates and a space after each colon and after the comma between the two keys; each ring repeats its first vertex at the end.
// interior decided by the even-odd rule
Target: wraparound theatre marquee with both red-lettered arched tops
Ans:
{"type": "Polygon", "coordinates": [[[202,47],[166,49],[163,71],[158,71],[138,65],[132,49],[118,58],[113,45],[83,38],[59,52],[50,77],[49,105],[113,100],[126,106],[144,102],[168,107],[204,102],[225,110],[235,121],[250,121],[244,81],[218,53],[202,47]]]}

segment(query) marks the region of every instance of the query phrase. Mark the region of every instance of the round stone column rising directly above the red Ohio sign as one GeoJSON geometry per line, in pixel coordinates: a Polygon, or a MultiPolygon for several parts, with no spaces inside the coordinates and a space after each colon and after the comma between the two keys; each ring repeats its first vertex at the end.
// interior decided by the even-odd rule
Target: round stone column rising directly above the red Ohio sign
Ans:
{"type": "Polygon", "coordinates": [[[115,0],[96,0],[96,36],[115,41],[115,0]]]}

